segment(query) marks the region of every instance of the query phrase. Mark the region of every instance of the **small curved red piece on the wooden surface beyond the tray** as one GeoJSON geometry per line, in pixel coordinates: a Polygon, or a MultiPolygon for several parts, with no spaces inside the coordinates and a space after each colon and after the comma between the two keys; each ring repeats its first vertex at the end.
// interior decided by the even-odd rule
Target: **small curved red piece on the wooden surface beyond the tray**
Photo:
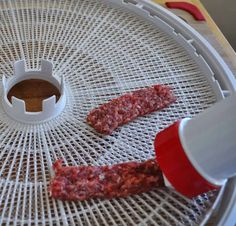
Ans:
{"type": "Polygon", "coordinates": [[[195,20],[206,21],[205,17],[197,6],[188,2],[166,2],[166,6],[172,9],[182,9],[189,12],[195,20]]]}

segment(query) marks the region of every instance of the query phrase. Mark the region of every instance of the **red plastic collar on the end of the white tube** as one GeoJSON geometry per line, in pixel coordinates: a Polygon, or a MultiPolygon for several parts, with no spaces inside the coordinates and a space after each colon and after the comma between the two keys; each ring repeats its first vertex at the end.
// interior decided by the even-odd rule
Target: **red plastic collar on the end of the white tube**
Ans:
{"type": "Polygon", "coordinates": [[[156,159],[172,186],[183,195],[193,198],[219,188],[202,177],[191,164],[179,138],[177,121],[159,132],[154,141],[156,159]]]}

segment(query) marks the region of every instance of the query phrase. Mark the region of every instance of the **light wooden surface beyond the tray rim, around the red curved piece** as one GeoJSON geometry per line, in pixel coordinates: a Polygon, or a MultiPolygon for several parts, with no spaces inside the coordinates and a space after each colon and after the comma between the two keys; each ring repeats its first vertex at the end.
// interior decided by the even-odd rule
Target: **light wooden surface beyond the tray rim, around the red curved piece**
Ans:
{"type": "Polygon", "coordinates": [[[211,45],[217,50],[221,57],[228,64],[233,74],[236,75],[236,53],[231,47],[223,33],[220,31],[214,20],[211,18],[205,7],[199,0],[152,0],[153,2],[165,6],[166,2],[188,2],[198,7],[204,15],[206,21],[196,21],[188,12],[180,9],[169,9],[171,12],[184,18],[189,25],[195,28],[202,36],[204,36],[211,45]]]}

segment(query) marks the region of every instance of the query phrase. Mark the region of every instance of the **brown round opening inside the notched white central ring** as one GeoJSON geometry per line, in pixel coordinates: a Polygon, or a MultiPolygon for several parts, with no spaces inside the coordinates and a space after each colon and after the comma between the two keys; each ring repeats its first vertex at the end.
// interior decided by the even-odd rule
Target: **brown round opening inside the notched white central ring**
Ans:
{"type": "Polygon", "coordinates": [[[60,98],[60,91],[50,82],[41,79],[28,79],[14,85],[7,94],[11,102],[12,96],[25,101],[26,111],[42,111],[42,101],[55,95],[56,101],[60,98]]]}

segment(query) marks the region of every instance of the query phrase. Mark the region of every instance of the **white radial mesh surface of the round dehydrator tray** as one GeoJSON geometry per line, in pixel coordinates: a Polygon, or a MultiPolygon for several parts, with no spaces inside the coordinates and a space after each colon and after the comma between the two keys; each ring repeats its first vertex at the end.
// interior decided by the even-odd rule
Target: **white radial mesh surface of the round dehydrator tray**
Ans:
{"type": "Polygon", "coordinates": [[[188,200],[171,189],[128,198],[61,202],[49,197],[51,165],[104,165],[154,156],[155,134],[216,101],[187,52],[144,19],[94,0],[1,1],[0,74],[25,58],[64,75],[67,105],[46,123],[25,125],[0,108],[0,224],[198,225],[217,193],[188,200]],[[152,84],[168,84],[178,100],[111,136],[86,124],[88,112],[111,98],[152,84]]]}

